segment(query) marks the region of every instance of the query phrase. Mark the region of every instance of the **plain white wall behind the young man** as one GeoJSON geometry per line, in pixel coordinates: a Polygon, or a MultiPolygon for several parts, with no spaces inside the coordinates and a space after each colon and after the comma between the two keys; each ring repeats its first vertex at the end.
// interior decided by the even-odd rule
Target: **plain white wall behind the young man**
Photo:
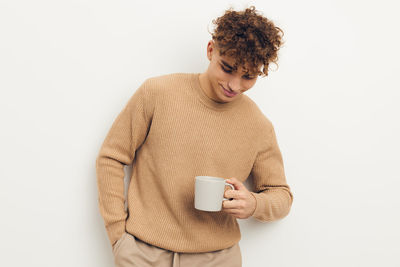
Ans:
{"type": "Polygon", "coordinates": [[[0,266],[113,266],[100,145],[146,78],[206,70],[231,4],[285,32],[279,68],[246,94],[294,193],[283,220],[238,220],[243,266],[400,266],[394,0],[1,0],[0,266]]]}

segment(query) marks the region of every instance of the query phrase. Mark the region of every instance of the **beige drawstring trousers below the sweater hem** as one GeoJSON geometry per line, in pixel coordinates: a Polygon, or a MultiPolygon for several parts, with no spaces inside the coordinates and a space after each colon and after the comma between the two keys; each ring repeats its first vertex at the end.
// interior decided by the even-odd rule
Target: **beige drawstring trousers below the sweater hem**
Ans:
{"type": "Polygon", "coordinates": [[[152,246],[125,232],[113,247],[116,267],[242,267],[239,244],[203,253],[181,253],[152,246]]]}

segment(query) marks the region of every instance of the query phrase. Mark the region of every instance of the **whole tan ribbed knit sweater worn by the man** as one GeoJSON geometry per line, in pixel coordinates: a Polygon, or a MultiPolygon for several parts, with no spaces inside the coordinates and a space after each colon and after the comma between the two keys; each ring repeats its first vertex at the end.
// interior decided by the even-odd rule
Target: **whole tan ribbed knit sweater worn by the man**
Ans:
{"type": "MultiPolygon", "coordinates": [[[[145,80],[115,119],[96,159],[98,200],[111,244],[127,231],[175,252],[209,252],[241,238],[236,218],[194,208],[195,176],[253,177],[253,217],[285,217],[293,195],[272,123],[241,94],[209,98],[200,73],[145,80]],[[132,164],[128,210],[124,165],[132,164]]],[[[228,189],[228,188],[227,188],[228,189]]]]}

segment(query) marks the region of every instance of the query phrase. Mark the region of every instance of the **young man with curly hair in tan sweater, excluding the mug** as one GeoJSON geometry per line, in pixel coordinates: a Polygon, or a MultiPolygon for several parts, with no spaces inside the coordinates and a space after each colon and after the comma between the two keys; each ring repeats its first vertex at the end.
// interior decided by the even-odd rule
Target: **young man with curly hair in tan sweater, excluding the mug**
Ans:
{"type": "Polygon", "coordinates": [[[243,94],[268,75],[282,31],[253,6],[229,9],[213,22],[208,69],[145,80],[96,159],[99,207],[116,266],[241,266],[236,219],[273,221],[291,208],[274,127],[243,94]],[[229,178],[235,190],[225,191],[230,200],[221,211],[194,208],[198,175],[229,178]],[[243,185],[248,177],[253,192],[243,185]]]}

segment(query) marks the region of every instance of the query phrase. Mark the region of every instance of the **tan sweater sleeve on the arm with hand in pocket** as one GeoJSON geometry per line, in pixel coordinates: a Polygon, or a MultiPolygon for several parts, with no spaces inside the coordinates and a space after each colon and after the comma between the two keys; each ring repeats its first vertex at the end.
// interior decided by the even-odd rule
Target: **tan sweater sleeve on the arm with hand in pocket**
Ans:
{"type": "Polygon", "coordinates": [[[131,96],[114,120],[96,158],[98,204],[111,245],[125,232],[124,165],[132,164],[149,125],[145,84],[131,96]]]}

